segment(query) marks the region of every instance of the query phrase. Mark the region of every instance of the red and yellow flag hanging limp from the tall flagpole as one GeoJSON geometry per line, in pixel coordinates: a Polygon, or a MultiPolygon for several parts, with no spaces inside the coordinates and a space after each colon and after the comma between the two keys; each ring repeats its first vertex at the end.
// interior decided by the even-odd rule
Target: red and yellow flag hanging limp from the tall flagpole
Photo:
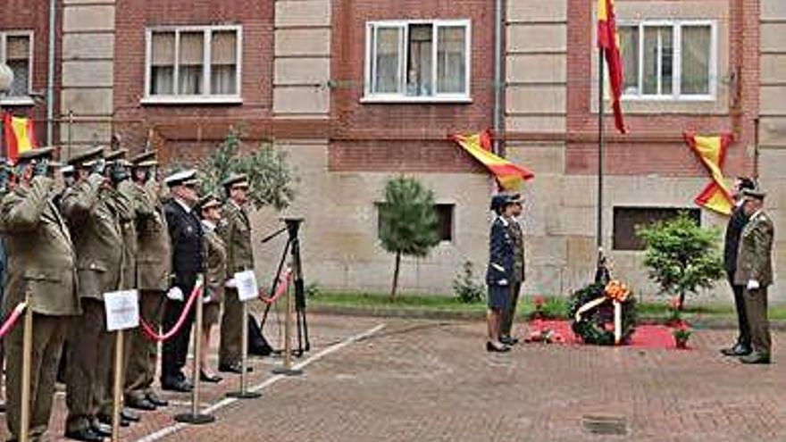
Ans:
{"type": "Polygon", "coordinates": [[[623,95],[623,60],[620,55],[614,0],[598,0],[598,48],[603,52],[608,66],[615,126],[621,133],[625,133],[623,106],[620,104],[620,96],[623,95]]]}

